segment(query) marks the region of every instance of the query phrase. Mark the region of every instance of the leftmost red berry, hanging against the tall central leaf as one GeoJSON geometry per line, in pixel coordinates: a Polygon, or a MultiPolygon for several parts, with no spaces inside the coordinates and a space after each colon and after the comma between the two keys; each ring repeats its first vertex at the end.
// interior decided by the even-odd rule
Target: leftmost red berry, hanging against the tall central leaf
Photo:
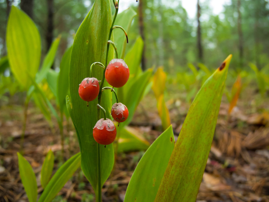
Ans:
{"type": "Polygon", "coordinates": [[[99,93],[99,83],[97,78],[85,78],[79,84],[79,96],[84,101],[93,101],[99,93]]]}

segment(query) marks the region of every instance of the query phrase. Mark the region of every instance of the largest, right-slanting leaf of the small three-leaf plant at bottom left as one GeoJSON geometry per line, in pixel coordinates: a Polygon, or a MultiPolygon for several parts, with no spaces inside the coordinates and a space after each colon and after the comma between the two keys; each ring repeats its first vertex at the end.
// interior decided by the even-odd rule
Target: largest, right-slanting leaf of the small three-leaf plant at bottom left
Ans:
{"type": "Polygon", "coordinates": [[[80,152],[68,159],[53,175],[38,202],[51,202],[65,183],[72,177],[80,166],[80,152]]]}

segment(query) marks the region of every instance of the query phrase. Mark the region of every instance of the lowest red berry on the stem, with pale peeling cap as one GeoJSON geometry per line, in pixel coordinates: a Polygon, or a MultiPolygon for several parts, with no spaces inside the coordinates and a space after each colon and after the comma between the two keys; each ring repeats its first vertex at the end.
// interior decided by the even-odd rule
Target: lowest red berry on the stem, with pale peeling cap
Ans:
{"type": "Polygon", "coordinates": [[[110,119],[100,119],[93,128],[94,140],[102,145],[111,144],[116,138],[116,127],[110,119]]]}

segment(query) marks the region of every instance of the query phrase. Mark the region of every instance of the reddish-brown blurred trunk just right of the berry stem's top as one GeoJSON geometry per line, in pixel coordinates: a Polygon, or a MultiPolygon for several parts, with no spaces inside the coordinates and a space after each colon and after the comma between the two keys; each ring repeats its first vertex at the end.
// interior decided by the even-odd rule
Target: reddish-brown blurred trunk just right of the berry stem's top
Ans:
{"type": "Polygon", "coordinates": [[[142,52],[142,58],[141,58],[141,68],[143,71],[146,70],[146,58],[145,58],[145,50],[146,50],[146,43],[145,43],[145,34],[144,34],[144,20],[143,20],[143,1],[139,0],[138,3],[138,19],[139,19],[139,33],[141,38],[144,41],[144,47],[142,52]]]}

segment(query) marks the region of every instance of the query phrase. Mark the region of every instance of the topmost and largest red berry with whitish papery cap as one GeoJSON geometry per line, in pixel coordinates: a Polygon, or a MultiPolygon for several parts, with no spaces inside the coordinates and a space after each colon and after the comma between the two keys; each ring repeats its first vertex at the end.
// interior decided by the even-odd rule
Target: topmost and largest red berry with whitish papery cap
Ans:
{"type": "Polygon", "coordinates": [[[105,70],[105,79],[116,88],[124,86],[129,79],[129,75],[130,70],[122,59],[112,59],[105,70]]]}

